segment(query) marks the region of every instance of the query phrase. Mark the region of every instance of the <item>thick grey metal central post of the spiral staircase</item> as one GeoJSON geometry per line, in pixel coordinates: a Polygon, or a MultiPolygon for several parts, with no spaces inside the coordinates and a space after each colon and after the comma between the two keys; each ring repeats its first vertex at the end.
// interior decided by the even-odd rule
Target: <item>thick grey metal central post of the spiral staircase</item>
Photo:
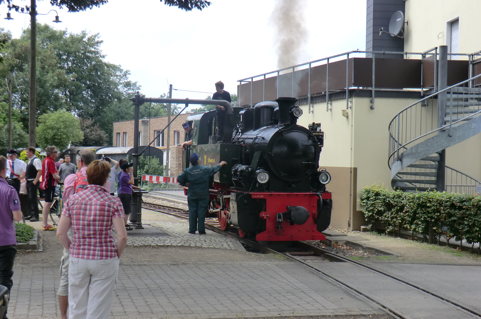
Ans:
{"type": "MultiPolygon", "coordinates": [[[[448,80],[448,47],[439,47],[438,62],[438,90],[441,91],[447,87],[448,80]]],[[[446,116],[446,97],[447,91],[438,95],[438,128],[444,126],[444,117],[446,116]]],[[[438,131],[441,134],[442,131],[438,131]]],[[[438,171],[436,176],[436,190],[444,192],[446,180],[446,149],[440,152],[440,160],[438,162],[438,171]]]]}

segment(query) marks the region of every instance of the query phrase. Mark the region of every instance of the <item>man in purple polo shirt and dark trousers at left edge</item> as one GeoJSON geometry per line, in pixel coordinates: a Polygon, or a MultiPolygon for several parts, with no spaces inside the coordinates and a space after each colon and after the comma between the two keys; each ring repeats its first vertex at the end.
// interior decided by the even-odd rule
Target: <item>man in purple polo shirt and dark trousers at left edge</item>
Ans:
{"type": "MultiPolygon", "coordinates": [[[[17,191],[5,180],[7,174],[7,159],[0,156],[0,285],[12,289],[13,281],[13,260],[17,248],[15,236],[15,225],[13,221],[22,220],[20,200],[17,191]]],[[[3,297],[3,296],[2,296],[3,297]]],[[[7,318],[6,311],[3,319],[7,318]]]]}

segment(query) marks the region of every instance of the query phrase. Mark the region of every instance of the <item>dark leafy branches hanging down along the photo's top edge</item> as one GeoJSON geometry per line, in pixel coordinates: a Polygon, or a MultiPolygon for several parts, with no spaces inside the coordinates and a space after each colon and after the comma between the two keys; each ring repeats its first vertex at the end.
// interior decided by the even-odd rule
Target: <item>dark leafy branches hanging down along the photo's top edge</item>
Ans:
{"type": "MultiPolygon", "coordinates": [[[[25,5],[22,7],[13,2],[16,2],[16,0],[0,0],[0,4],[7,3],[9,9],[21,12],[30,11],[30,6],[25,5]]],[[[59,8],[67,7],[69,12],[78,12],[92,9],[93,7],[100,7],[107,2],[108,0],[50,0],[52,6],[59,8]]],[[[169,7],[175,6],[185,11],[191,11],[192,9],[202,11],[203,8],[210,6],[211,2],[206,0],[164,0],[164,4],[169,7]]]]}

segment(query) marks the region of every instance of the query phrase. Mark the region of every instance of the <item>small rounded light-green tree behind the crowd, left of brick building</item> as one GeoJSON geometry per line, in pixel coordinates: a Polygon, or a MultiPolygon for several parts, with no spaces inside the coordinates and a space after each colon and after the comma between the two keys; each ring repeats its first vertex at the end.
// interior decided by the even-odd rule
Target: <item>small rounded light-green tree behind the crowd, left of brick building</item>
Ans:
{"type": "Polygon", "coordinates": [[[67,148],[70,142],[81,142],[84,138],[80,121],[70,112],[57,110],[38,117],[37,144],[44,148],[54,145],[67,148]]]}

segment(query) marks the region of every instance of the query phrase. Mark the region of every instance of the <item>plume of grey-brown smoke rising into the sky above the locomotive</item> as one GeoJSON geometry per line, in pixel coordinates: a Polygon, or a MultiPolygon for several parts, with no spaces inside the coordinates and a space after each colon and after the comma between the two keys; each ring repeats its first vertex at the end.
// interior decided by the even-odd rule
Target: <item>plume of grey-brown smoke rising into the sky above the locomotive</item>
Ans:
{"type": "Polygon", "coordinates": [[[304,25],[306,0],[275,0],[270,20],[275,28],[274,43],[278,50],[277,67],[286,68],[300,63],[308,30],[304,25]]]}

